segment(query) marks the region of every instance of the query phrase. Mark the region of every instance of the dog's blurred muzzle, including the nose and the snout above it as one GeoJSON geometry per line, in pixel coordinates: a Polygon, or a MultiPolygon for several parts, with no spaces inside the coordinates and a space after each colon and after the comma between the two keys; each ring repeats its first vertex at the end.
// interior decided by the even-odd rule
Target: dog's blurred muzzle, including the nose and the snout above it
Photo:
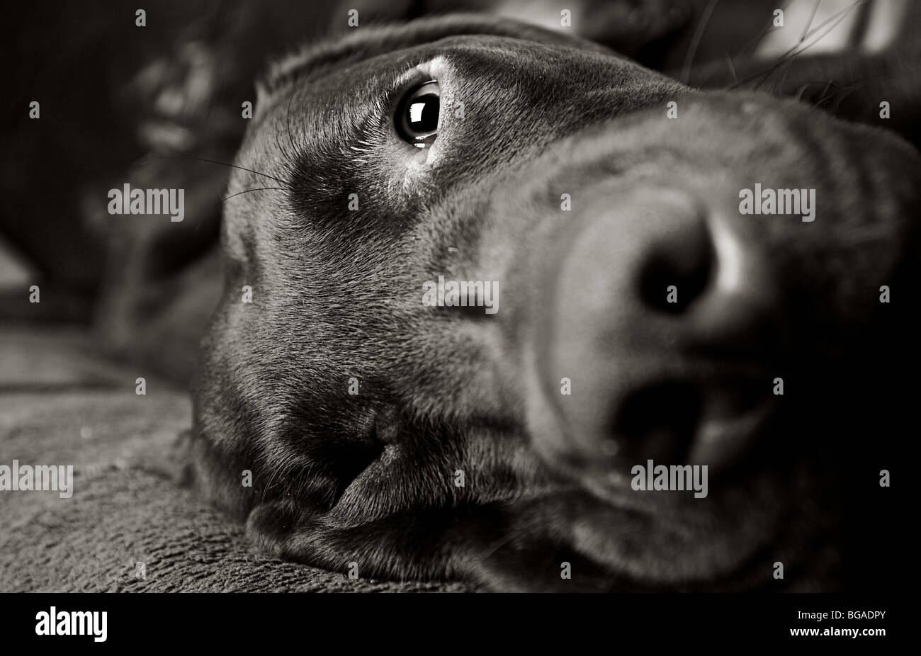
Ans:
{"type": "Polygon", "coordinates": [[[904,256],[910,146],[789,103],[684,105],[571,137],[498,210],[533,214],[512,275],[540,291],[509,327],[533,445],[605,486],[730,470],[904,256]]]}

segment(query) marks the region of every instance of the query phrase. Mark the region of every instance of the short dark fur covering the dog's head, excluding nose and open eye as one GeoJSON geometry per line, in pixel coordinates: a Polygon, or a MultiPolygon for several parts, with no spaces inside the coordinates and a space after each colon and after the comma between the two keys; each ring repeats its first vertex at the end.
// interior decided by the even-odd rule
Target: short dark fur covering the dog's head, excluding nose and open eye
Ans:
{"type": "MultiPolygon", "coordinates": [[[[834,425],[822,385],[842,352],[858,366],[875,290],[916,252],[910,146],[797,103],[695,92],[597,45],[495,18],[362,29],[279,64],[257,109],[237,163],[284,189],[227,204],[226,288],[204,340],[191,444],[197,484],[255,541],[324,568],[355,561],[362,576],[507,590],[770,588],[778,559],[793,588],[841,585],[851,466],[841,445],[860,436],[822,434],[834,425]],[[407,180],[391,106],[405,73],[433,56],[449,58],[466,119],[438,166],[407,180]],[[665,120],[668,100],[682,122],[665,120]],[[802,337],[783,361],[822,393],[794,393],[798,423],[714,482],[704,510],[593,495],[539,457],[529,430],[535,253],[558,237],[542,217],[560,190],[628,184],[639,164],[653,176],[703,172],[707,193],[729,199],[744,173],[813,186],[835,218],[795,234],[752,223],[785,293],[776,315],[802,337]],[[858,213],[861,197],[875,203],[858,213]],[[484,267],[506,284],[495,317],[421,306],[422,281],[484,267]],[[464,487],[453,485],[459,469],[464,487]],[[243,470],[252,487],[240,486],[243,470]],[[560,579],[564,560],[572,581],[560,579]]],[[[236,170],[227,193],[264,186],[274,184],[236,170]]],[[[867,485],[877,465],[861,472],[867,485]]]]}

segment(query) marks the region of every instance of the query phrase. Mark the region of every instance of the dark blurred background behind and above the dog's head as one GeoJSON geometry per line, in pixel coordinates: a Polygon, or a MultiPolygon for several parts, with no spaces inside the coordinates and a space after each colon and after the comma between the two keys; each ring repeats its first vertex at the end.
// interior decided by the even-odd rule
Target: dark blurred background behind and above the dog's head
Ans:
{"type": "Polygon", "coordinates": [[[694,86],[758,88],[876,123],[887,100],[886,124],[918,143],[921,3],[910,0],[139,5],[5,7],[0,321],[73,329],[181,383],[221,286],[219,201],[246,128],[241,103],[255,102],[268,60],[305,42],[387,20],[493,12],[570,29],[694,86]],[[109,215],[108,190],[125,183],[185,189],[184,220],[109,215]],[[33,286],[41,302],[30,302],[33,286]]]}

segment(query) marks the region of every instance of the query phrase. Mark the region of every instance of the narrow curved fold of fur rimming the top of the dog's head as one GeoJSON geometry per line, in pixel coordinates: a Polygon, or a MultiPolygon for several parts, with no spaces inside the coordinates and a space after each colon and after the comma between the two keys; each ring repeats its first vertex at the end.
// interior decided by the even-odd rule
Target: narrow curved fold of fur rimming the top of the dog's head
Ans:
{"type": "Polygon", "coordinates": [[[424,18],[402,25],[352,30],[344,37],[309,46],[286,57],[272,65],[268,74],[257,81],[257,102],[268,98],[274,90],[286,87],[295,77],[315,76],[333,65],[354,64],[382,53],[412,48],[458,35],[492,35],[542,43],[569,44],[583,51],[615,56],[608,48],[592,41],[520,23],[511,18],[463,14],[424,18]]]}

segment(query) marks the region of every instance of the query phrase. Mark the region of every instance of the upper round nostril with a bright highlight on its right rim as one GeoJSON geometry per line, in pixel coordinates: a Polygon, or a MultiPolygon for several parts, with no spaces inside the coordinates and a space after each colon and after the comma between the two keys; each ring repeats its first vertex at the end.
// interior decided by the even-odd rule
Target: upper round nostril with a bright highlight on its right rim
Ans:
{"type": "Polygon", "coordinates": [[[712,282],[716,250],[703,225],[659,237],[641,264],[639,293],[647,308],[681,314],[712,282]]]}

